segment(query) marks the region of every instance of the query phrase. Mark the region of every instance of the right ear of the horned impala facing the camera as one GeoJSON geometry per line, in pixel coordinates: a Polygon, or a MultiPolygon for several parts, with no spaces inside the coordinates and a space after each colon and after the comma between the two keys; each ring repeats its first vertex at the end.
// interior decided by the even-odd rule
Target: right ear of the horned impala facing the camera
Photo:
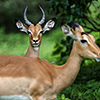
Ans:
{"type": "Polygon", "coordinates": [[[52,18],[51,20],[49,20],[43,27],[43,33],[45,33],[46,31],[51,30],[54,25],[55,25],[55,20],[56,18],[52,18]]]}

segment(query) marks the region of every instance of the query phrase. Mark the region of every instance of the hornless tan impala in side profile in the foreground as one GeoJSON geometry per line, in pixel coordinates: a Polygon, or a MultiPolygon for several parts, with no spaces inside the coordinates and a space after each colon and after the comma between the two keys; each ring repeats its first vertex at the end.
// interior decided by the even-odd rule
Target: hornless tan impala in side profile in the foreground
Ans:
{"type": "Polygon", "coordinates": [[[62,31],[74,39],[70,57],[62,66],[38,57],[0,55],[0,95],[54,100],[57,94],[73,83],[83,57],[100,61],[100,48],[87,33],[75,32],[67,25],[62,25],[62,31]]]}

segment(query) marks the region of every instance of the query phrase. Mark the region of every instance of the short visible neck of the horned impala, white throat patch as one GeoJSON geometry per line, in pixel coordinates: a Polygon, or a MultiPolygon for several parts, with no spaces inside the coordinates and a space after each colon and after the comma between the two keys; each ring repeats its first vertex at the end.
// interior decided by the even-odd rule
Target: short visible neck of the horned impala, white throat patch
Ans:
{"type": "Polygon", "coordinates": [[[24,57],[38,57],[39,56],[39,47],[32,47],[31,44],[29,44],[29,48],[26,52],[26,54],[24,55],[24,57]]]}

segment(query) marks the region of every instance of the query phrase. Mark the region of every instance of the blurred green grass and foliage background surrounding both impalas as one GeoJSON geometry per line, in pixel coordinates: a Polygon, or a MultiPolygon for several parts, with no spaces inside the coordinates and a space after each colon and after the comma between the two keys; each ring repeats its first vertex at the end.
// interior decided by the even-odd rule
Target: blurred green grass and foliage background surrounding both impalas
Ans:
{"type": "MultiPolygon", "coordinates": [[[[71,26],[73,20],[92,34],[100,47],[100,0],[0,0],[0,54],[23,56],[29,46],[29,37],[20,32],[14,19],[23,20],[28,5],[27,17],[36,24],[42,17],[40,5],[46,13],[46,21],[56,17],[56,25],[43,34],[39,57],[57,65],[64,64],[71,52],[73,40],[61,31],[60,23],[71,26]]],[[[22,100],[12,97],[0,100],[22,100]]],[[[84,59],[75,82],[56,100],[100,100],[100,63],[84,59]]]]}

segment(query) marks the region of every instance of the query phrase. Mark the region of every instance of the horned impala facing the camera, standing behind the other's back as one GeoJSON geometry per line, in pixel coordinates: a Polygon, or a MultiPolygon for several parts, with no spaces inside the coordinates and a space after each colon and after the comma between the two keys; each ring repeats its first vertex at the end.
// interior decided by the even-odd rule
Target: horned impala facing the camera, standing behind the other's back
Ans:
{"type": "Polygon", "coordinates": [[[18,27],[18,29],[20,29],[20,31],[24,31],[29,35],[29,39],[30,39],[29,48],[24,56],[25,57],[38,57],[42,34],[45,33],[46,31],[51,30],[54,27],[55,18],[49,20],[45,24],[45,26],[42,28],[41,25],[45,22],[45,13],[43,9],[39,6],[43,13],[43,17],[41,21],[39,21],[38,24],[34,25],[26,17],[27,7],[28,6],[26,6],[25,11],[24,11],[24,20],[27,25],[23,24],[19,20],[15,20],[16,26],[18,27]]]}

